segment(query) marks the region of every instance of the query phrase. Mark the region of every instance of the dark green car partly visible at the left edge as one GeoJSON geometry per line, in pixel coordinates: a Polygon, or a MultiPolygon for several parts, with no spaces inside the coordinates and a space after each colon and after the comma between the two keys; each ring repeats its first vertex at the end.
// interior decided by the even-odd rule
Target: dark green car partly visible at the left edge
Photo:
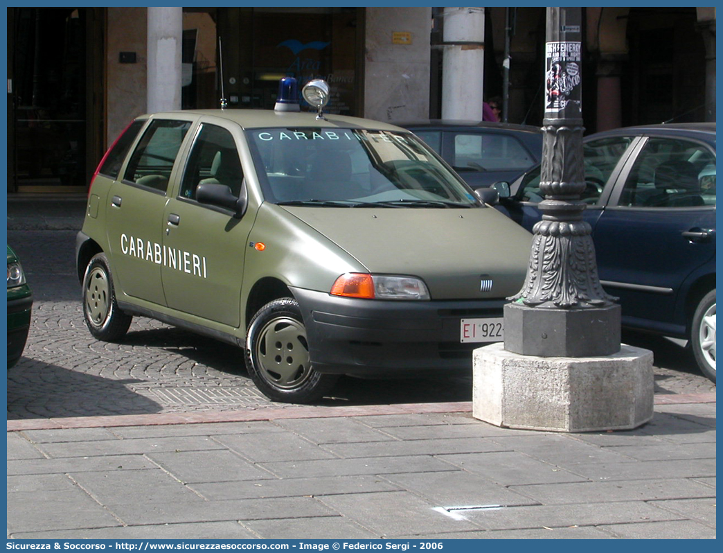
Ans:
{"type": "Polygon", "coordinates": [[[30,330],[33,293],[25,282],[20,260],[7,247],[7,367],[20,360],[30,330]]]}

